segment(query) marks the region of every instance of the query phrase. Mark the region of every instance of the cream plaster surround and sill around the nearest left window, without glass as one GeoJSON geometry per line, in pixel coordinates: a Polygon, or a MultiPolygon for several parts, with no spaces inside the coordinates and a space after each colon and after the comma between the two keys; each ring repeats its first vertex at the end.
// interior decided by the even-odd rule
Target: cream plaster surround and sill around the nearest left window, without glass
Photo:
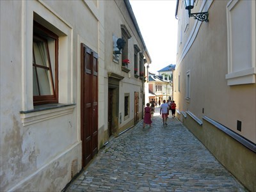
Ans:
{"type": "MultiPolygon", "coordinates": [[[[23,2],[26,4],[26,1],[23,2]]],[[[72,85],[72,66],[73,66],[73,58],[72,58],[72,49],[70,47],[74,47],[72,44],[72,34],[73,28],[66,22],[61,19],[54,10],[51,10],[48,6],[45,6],[43,1],[29,1],[30,6],[22,6],[24,9],[23,12],[26,14],[23,15],[22,21],[22,42],[24,42],[24,47],[22,48],[23,58],[22,58],[22,109],[20,112],[20,118],[22,120],[22,124],[30,125],[43,120],[48,120],[50,118],[56,117],[53,115],[56,111],[58,111],[58,116],[61,116],[60,111],[63,111],[64,114],[71,113],[67,112],[68,108],[74,109],[74,106],[67,106],[67,104],[72,104],[73,98],[73,85],[72,85]],[[59,94],[58,94],[58,102],[62,106],[61,109],[51,107],[45,107],[44,110],[39,110],[33,104],[33,68],[31,67],[31,63],[33,63],[33,21],[38,22],[42,26],[45,26],[53,33],[59,36],[59,54],[58,60],[61,65],[58,68],[59,75],[59,94]],[[26,21],[26,23],[25,23],[26,21]],[[26,31],[26,33],[24,32],[26,31]],[[51,109],[51,110],[46,110],[51,109]],[[67,113],[66,113],[67,112],[67,113]]],[[[54,104],[56,106],[56,104],[54,104]]]]}

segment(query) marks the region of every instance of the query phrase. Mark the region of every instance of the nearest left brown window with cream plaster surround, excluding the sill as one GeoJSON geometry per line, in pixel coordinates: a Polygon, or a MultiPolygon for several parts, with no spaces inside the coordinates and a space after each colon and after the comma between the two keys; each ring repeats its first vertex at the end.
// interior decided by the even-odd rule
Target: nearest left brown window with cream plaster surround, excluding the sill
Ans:
{"type": "Polygon", "coordinates": [[[56,19],[58,17],[51,12],[49,18],[51,22],[33,12],[33,28],[26,29],[32,30],[31,36],[28,36],[31,58],[27,58],[31,64],[26,70],[31,70],[27,82],[31,86],[27,92],[33,96],[33,102],[31,105],[30,96],[24,96],[27,104],[24,111],[35,109],[34,106],[40,104],[72,104],[72,97],[68,96],[72,90],[72,60],[68,49],[72,47],[72,27],[65,20],[56,19]]]}

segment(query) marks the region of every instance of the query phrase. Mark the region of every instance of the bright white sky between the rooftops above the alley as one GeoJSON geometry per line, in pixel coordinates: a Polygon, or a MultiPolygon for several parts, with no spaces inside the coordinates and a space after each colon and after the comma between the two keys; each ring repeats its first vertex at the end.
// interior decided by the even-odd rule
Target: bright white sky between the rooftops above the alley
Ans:
{"type": "Polygon", "coordinates": [[[177,0],[129,0],[152,63],[149,71],[176,64],[177,0]]]}

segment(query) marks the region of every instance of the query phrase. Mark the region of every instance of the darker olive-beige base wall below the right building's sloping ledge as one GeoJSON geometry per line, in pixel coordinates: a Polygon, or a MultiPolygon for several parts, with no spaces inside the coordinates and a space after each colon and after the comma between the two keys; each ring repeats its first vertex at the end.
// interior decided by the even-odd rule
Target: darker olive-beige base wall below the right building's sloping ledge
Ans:
{"type": "Polygon", "coordinates": [[[250,191],[256,189],[256,154],[214,125],[203,120],[199,125],[187,115],[182,123],[250,191]]]}

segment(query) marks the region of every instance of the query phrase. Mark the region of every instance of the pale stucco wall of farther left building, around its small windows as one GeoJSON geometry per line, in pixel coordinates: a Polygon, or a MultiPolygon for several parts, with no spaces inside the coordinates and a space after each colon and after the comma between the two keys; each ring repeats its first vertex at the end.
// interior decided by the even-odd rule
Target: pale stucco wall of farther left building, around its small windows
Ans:
{"type": "MultiPolygon", "coordinates": [[[[134,118],[134,92],[139,92],[139,113],[143,110],[141,88],[142,81],[140,78],[134,77],[134,45],[138,45],[143,51],[143,44],[138,35],[129,13],[125,7],[124,1],[108,1],[105,4],[105,78],[108,78],[108,72],[118,74],[124,77],[119,83],[119,104],[118,104],[118,128],[125,127],[134,118]],[[130,72],[122,71],[122,55],[120,55],[119,63],[113,61],[113,35],[117,38],[122,37],[121,25],[125,25],[131,38],[128,44],[128,59],[130,63],[128,68],[130,72]],[[124,119],[124,94],[129,93],[129,118],[124,119]],[[120,122],[120,113],[122,114],[122,122],[120,122]]],[[[139,57],[139,56],[138,56],[139,57]]],[[[139,62],[138,62],[139,68],[139,62]]],[[[108,83],[105,82],[105,86],[108,83]]],[[[106,88],[105,88],[106,89],[106,88]]],[[[106,96],[107,98],[107,96],[106,96]]],[[[105,104],[106,106],[106,104],[105,104]]],[[[104,113],[108,114],[108,108],[104,109],[104,113]]],[[[105,131],[108,129],[108,118],[105,116],[105,131]]]]}

